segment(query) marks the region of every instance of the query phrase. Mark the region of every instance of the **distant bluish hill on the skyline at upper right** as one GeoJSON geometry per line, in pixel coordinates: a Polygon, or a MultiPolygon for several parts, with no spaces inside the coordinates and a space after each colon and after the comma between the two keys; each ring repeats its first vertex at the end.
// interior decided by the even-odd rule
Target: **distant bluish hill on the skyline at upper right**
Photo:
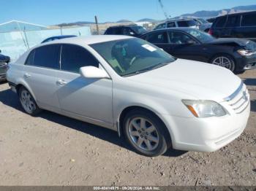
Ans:
{"type": "Polygon", "coordinates": [[[238,7],[233,7],[231,9],[222,9],[222,10],[217,10],[217,11],[197,11],[194,13],[187,13],[183,14],[181,16],[192,16],[192,17],[217,17],[220,15],[225,15],[227,13],[236,13],[236,12],[246,12],[246,11],[253,11],[256,10],[256,4],[254,5],[247,5],[247,6],[238,6],[238,7]]]}

